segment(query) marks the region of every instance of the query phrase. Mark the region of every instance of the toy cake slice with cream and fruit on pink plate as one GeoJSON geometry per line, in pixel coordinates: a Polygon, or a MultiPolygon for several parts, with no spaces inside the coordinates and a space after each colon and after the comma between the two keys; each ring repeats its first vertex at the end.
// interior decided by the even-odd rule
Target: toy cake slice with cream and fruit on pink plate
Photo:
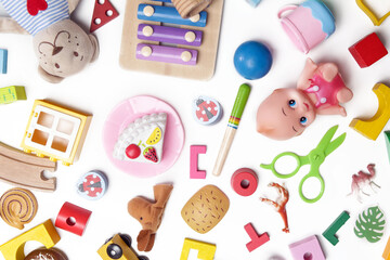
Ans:
{"type": "Polygon", "coordinates": [[[166,125],[166,113],[145,115],[135,119],[118,136],[113,157],[138,162],[160,162],[166,125]]]}

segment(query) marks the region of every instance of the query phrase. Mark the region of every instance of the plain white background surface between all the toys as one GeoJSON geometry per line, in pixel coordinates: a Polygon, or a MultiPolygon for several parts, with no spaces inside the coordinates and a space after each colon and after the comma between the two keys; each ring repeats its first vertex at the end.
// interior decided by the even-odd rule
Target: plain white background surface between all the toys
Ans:
{"type": "MultiPolygon", "coordinates": [[[[381,259],[390,235],[389,229],[386,229],[380,242],[369,244],[354,235],[353,225],[358,213],[373,205],[379,205],[390,221],[390,168],[384,134],[374,142],[348,126],[354,117],[369,118],[376,113],[377,98],[372,88],[377,82],[389,83],[390,56],[362,69],[348,48],[373,31],[378,32],[385,46],[389,48],[390,21],[375,27],[355,1],[326,1],[335,14],[337,29],[308,56],[315,62],[335,62],[339,65],[344,81],[354,92],[353,100],[346,105],[348,117],[318,116],[301,136],[278,142],[256,132],[256,112],[261,101],[274,89],[295,87],[303,68],[307,56],[295,49],[276,17],[280,8],[298,2],[300,1],[263,0],[257,9],[252,9],[244,0],[226,0],[216,74],[207,82],[120,68],[118,58],[126,1],[113,0],[120,16],[95,32],[101,47],[98,62],[60,84],[48,83],[38,76],[30,36],[0,35],[0,48],[9,50],[9,70],[6,75],[0,75],[0,87],[25,86],[28,96],[27,101],[0,106],[1,142],[20,147],[36,99],[51,99],[93,114],[80,160],[70,167],[58,164],[55,173],[48,173],[57,178],[57,190],[54,193],[34,192],[39,202],[39,210],[24,231],[47,219],[54,221],[64,202],[70,202],[93,212],[81,237],[58,230],[62,239],[56,247],[64,250],[69,259],[100,259],[98,248],[117,232],[130,234],[136,248],[135,238],[141,225],[128,214],[127,203],[138,195],[153,198],[153,185],[171,182],[174,188],[162,224],[157,232],[155,246],[151,252],[143,253],[151,260],[179,259],[185,237],[217,244],[214,259],[218,260],[291,259],[288,245],[313,234],[318,236],[327,259],[381,259]],[[266,43],[272,50],[273,66],[264,78],[249,82],[252,87],[251,94],[222,174],[217,178],[211,174],[217,153],[237,89],[240,83],[246,82],[234,69],[233,54],[235,49],[247,40],[266,43]],[[170,103],[180,114],[185,128],[185,144],[177,164],[167,172],[150,179],[134,178],[115,169],[108,161],[102,144],[102,129],[110,109],[122,100],[139,94],[154,95],[170,103]],[[191,115],[192,101],[198,95],[212,96],[223,106],[224,116],[218,125],[204,127],[194,121],[191,115]],[[295,178],[285,181],[290,192],[287,205],[290,233],[285,234],[282,232],[283,222],[278,213],[259,200],[263,195],[275,198],[276,192],[266,185],[271,181],[282,181],[270,171],[261,169],[259,165],[270,162],[281,152],[291,151],[307,155],[334,125],[340,126],[336,136],[346,131],[347,139],[321,167],[326,185],[322,199],[309,205],[299,198],[298,184],[308,171],[307,168],[295,178]],[[207,154],[199,156],[199,169],[207,170],[206,180],[188,178],[192,144],[207,145],[207,154]],[[350,192],[351,176],[361,169],[366,171],[369,162],[376,164],[375,182],[381,188],[370,197],[364,197],[363,204],[360,204],[352,196],[347,196],[350,192]],[[249,167],[259,174],[259,187],[250,197],[238,196],[230,185],[232,173],[242,167],[249,167]],[[89,202],[78,196],[75,187],[79,177],[92,169],[103,170],[109,178],[108,192],[98,202],[89,202]],[[231,207],[225,218],[213,230],[202,235],[185,224],[180,211],[198,188],[209,183],[225,192],[231,207]],[[333,246],[321,234],[343,210],[350,212],[351,219],[338,232],[340,242],[333,246]],[[244,225],[248,222],[252,222],[259,233],[268,232],[271,237],[269,243],[250,253],[245,247],[249,237],[244,231],[244,225]],[[273,258],[275,256],[280,258],[273,258]]],[[[74,14],[74,20],[86,29],[90,25],[93,5],[93,0],[82,0],[74,14]]],[[[0,194],[11,187],[0,183],[0,194]]],[[[3,221],[0,221],[0,244],[22,233],[3,221]]],[[[28,243],[27,249],[30,250],[35,246],[37,245],[28,243]]]]}

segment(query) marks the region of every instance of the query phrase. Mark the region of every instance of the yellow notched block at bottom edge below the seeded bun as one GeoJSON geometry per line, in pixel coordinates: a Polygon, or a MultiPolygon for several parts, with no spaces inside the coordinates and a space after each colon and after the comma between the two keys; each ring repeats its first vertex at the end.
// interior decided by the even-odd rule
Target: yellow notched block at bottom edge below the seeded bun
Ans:
{"type": "Polygon", "coordinates": [[[212,260],[216,255],[217,246],[205,242],[185,238],[180,260],[187,260],[191,249],[198,250],[198,259],[212,260]]]}

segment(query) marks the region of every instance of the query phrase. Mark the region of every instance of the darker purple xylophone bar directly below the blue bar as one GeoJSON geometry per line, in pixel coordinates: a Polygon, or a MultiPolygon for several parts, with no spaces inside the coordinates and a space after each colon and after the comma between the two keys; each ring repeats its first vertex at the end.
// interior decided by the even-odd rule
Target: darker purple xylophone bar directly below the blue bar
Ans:
{"type": "Polygon", "coordinates": [[[199,47],[203,32],[200,30],[182,29],[159,25],[140,24],[138,38],[141,40],[160,41],[173,44],[199,47]],[[151,29],[152,28],[152,29],[151,29]],[[145,30],[145,32],[143,31],[145,30]],[[151,36],[147,36],[152,32],[151,36]],[[185,37],[187,35],[187,37],[185,37]]]}

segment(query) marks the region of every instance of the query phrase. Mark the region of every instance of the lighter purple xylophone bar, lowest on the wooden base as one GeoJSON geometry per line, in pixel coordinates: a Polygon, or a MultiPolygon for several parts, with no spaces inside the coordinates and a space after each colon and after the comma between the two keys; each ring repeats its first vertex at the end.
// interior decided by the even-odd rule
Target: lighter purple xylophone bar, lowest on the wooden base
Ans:
{"type": "Polygon", "coordinates": [[[197,51],[183,48],[139,43],[136,46],[135,57],[139,60],[154,62],[196,65],[197,51]],[[187,62],[183,60],[185,54],[190,54],[190,56],[187,56],[187,62]]]}

